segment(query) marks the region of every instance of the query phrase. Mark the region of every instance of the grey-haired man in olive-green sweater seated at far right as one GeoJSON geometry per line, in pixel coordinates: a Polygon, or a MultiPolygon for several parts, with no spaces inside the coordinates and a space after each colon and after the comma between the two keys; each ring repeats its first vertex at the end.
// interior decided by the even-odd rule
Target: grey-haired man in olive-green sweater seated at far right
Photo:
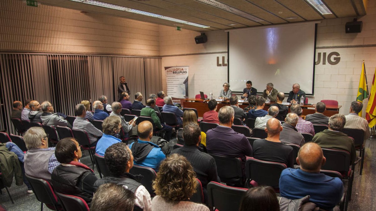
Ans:
{"type": "Polygon", "coordinates": [[[346,150],[350,153],[351,163],[355,161],[356,152],[352,138],[342,133],[346,118],[342,114],[335,114],[329,118],[329,129],[317,133],[312,142],[317,143],[321,148],[346,150]]]}

